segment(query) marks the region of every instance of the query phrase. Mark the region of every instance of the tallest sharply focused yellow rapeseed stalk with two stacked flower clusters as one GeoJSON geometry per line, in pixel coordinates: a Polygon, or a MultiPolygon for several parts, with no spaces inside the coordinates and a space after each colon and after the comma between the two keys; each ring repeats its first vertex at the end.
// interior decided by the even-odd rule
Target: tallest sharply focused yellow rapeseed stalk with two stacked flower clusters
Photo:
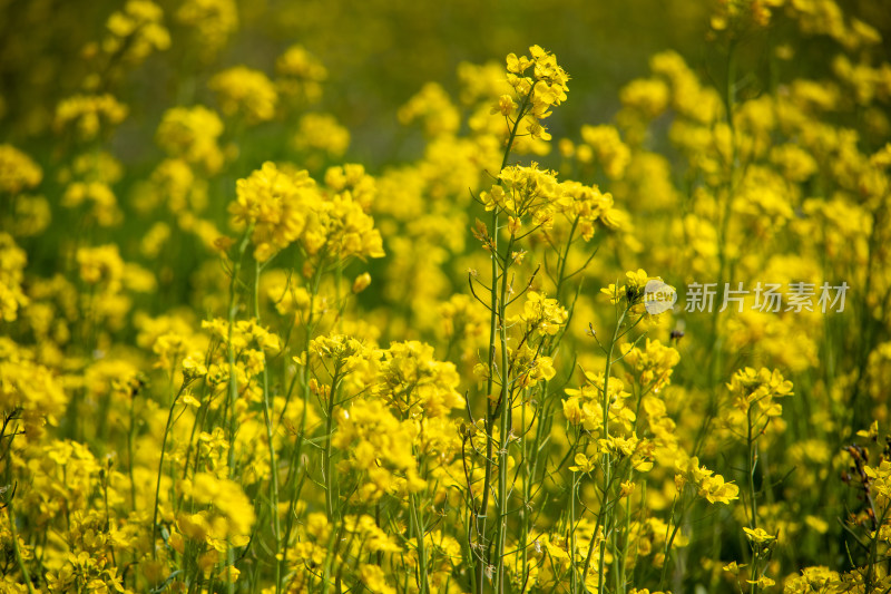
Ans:
{"type": "MultiPolygon", "coordinates": [[[[489,309],[490,321],[486,361],[486,474],[482,500],[474,520],[476,546],[479,554],[474,584],[479,593],[484,591],[487,575],[492,578],[495,592],[505,591],[510,416],[513,408],[515,381],[519,377],[516,370],[515,376],[511,376],[507,322],[507,309],[513,292],[511,266],[520,260],[515,247],[526,236],[519,233],[523,217],[527,221],[531,220],[535,228],[547,225],[552,217],[552,205],[559,197],[556,179],[550,172],[540,171],[535,164],[529,168],[508,166],[511,149],[519,134],[539,139],[550,138],[541,120],[550,115],[550,107],[559,105],[566,98],[568,90],[569,77],[557,65],[556,58],[538,46],[532,46],[529,51],[531,58],[526,56],[518,58],[513,53],[507,58],[508,84],[515,92],[513,96],[502,95],[493,108],[493,113],[500,111],[505,116],[508,125],[505,153],[496,185],[490,192],[480,196],[486,208],[492,213],[491,234],[480,222],[474,230],[474,235],[482,242],[491,259],[490,285],[481,285],[489,291],[489,300],[487,302],[480,299],[489,309]],[[503,251],[499,247],[499,235],[502,234],[502,230],[506,230],[508,235],[503,251]],[[489,541],[487,519],[496,466],[498,469],[496,529],[489,541]]],[[[471,291],[476,295],[472,277],[470,282],[471,291]]]]}

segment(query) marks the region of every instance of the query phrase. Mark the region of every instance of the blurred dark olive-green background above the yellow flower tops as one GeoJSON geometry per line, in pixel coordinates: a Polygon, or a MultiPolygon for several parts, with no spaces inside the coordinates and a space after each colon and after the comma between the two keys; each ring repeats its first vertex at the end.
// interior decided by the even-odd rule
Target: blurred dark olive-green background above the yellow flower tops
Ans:
{"type": "MultiPolygon", "coordinates": [[[[58,97],[76,92],[90,72],[92,64],[84,59],[85,48],[120,4],[0,2],[0,134],[20,144],[41,137],[58,97]]],[[[174,14],[178,6],[169,1],[158,4],[165,14],[174,14]]],[[[845,4],[851,16],[880,30],[891,28],[891,11],[883,2],[851,0],[845,4]]],[[[213,74],[233,65],[272,71],[276,57],[294,43],[327,68],[325,108],[352,132],[349,156],[366,166],[382,166],[420,152],[420,139],[407,137],[394,124],[399,106],[424,82],[439,81],[453,95],[459,62],[498,60],[532,42],[559,56],[572,77],[572,101],[551,121],[552,132],[560,136],[567,121],[608,121],[618,109],[616,89],[644,75],[647,60],[658,51],[678,51],[706,79],[723,76],[724,57],[706,42],[711,9],[709,2],[686,0],[239,2],[237,30],[209,60],[198,56],[207,39],[195,43],[182,25],[177,29],[175,22],[168,23],[174,26],[170,48],[154,53],[118,81],[120,100],[146,113],[128,118],[116,144],[125,162],[150,160],[157,149],[146,139],[165,108],[196,100],[212,104],[204,84],[213,74]]],[[[794,23],[781,21],[757,37],[782,39],[783,27],[794,28],[794,23]]],[[[753,74],[766,71],[770,42],[760,38],[744,41],[742,51],[748,48],[746,67],[754,69],[753,74]]],[[[885,49],[890,42],[883,40],[885,49]]],[[[810,39],[796,47],[790,67],[803,77],[824,74],[835,47],[824,37],[810,39]]],[[[748,92],[757,90],[750,87],[748,92]]]]}

